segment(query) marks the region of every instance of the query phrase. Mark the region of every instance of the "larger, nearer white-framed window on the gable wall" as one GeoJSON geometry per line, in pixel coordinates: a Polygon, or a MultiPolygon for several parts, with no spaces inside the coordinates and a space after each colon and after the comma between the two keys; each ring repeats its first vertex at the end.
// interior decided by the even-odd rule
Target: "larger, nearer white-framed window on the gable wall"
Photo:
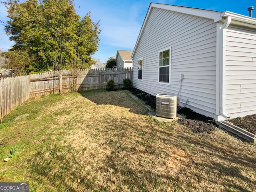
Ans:
{"type": "Polygon", "coordinates": [[[159,82],[170,83],[170,49],[159,52],[159,82]]]}

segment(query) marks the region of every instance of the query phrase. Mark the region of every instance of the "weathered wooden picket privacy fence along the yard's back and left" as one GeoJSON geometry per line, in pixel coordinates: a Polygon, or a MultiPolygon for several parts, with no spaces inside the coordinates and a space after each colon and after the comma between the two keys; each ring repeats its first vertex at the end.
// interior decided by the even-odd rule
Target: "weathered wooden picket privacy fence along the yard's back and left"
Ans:
{"type": "Polygon", "coordinates": [[[62,70],[0,79],[0,118],[35,96],[106,88],[108,80],[119,87],[132,80],[132,68],[62,70]]]}

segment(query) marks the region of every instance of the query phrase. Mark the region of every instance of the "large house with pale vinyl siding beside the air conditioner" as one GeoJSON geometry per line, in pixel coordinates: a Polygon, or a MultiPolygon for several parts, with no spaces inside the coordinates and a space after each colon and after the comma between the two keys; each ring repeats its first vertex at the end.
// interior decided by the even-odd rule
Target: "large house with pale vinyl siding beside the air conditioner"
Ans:
{"type": "Polygon", "coordinates": [[[216,120],[256,113],[255,18],[151,3],[132,60],[135,88],[216,120]]]}

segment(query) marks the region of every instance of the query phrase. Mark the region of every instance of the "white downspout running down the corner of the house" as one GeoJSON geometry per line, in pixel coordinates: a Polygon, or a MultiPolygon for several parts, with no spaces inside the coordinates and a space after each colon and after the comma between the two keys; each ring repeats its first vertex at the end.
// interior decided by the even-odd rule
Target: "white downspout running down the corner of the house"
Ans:
{"type": "Polygon", "coordinates": [[[220,115],[230,118],[226,113],[226,29],[231,23],[231,17],[227,17],[220,28],[220,115]]]}

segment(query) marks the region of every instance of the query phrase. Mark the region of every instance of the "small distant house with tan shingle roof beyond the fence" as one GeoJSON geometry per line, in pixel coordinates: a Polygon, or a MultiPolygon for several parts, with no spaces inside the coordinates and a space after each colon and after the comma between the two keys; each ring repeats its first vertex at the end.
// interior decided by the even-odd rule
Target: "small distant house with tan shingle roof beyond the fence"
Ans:
{"type": "Polygon", "coordinates": [[[116,67],[128,68],[132,67],[132,51],[118,50],[116,53],[116,67]]]}

